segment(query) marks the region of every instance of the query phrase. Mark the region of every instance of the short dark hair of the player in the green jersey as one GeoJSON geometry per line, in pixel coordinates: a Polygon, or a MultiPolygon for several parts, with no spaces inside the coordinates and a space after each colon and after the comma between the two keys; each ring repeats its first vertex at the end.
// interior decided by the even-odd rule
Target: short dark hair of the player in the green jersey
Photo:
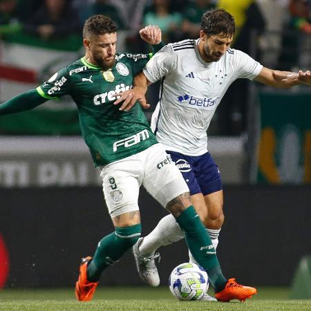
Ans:
{"type": "Polygon", "coordinates": [[[104,35],[105,33],[117,32],[117,26],[113,20],[105,15],[93,15],[88,17],[83,27],[83,37],[89,35],[104,35]]]}

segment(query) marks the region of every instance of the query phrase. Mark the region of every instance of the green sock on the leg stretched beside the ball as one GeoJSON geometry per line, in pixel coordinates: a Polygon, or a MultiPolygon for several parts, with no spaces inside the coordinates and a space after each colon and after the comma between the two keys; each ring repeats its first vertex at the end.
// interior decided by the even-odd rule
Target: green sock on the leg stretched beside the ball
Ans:
{"type": "Polygon", "coordinates": [[[209,276],[209,281],[216,292],[225,288],[227,279],[223,276],[220,264],[216,255],[216,250],[211,243],[211,238],[202,224],[193,206],[182,211],[176,218],[185,238],[191,254],[201,265],[209,276]]]}

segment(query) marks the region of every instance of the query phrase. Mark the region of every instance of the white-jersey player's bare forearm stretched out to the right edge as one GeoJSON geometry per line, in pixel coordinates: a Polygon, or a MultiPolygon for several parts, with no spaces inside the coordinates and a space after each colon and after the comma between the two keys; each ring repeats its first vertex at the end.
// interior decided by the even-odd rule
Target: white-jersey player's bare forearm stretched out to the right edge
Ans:
{"type": "Polygon", "coordinates": [[[291,88],[299,84],[311,85],[311,73],[310,70],[299,70],[298,73],[293,73],[263,67],[257,77],[254,78],[254,81],[275,88],[291,88]]]}

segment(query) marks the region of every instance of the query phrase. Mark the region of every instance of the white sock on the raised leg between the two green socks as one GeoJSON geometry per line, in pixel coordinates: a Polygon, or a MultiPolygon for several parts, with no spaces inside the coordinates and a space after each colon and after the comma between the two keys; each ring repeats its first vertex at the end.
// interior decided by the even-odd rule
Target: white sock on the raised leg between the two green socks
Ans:
{"type": "Polygon", "coordinates": [[[174,216],[169,214],[159,221],[152,232],[144,236],[138,250],[142,254],[154,254],[159,247],[180,241],[182,238],[185,238],[182,229],[174,216]]]}

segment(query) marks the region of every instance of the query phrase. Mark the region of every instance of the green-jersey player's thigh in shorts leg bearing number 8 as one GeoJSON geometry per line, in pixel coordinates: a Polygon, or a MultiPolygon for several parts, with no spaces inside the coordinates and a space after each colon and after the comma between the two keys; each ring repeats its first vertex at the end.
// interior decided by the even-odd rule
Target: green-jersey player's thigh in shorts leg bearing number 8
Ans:
{"type": "Polygon", "coordinates": [[[137,211],[141,173],[137,167],[141,165],[132,160],[123,160],[108,164],[100,173],[109,214],[115,220],[119,218],[119,225],[126,222],[135,225],[140,222],[137,211]]]}

